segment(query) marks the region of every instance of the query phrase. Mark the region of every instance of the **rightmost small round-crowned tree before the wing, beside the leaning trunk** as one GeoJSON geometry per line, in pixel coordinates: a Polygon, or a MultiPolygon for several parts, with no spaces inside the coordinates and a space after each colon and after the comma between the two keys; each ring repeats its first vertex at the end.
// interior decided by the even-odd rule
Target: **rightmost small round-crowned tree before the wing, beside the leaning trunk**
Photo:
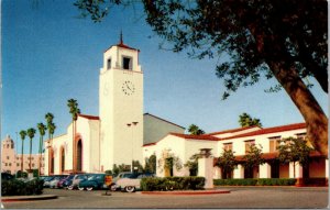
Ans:
{"type": "Polygon", "coordinates": [[[306,166],[309,162],[309,153],[312,151],[307,145],[307,141],[296,137],[287,137],[279,141],[278,159],[282,163],[298,162],[301,166],[306,166]]]}

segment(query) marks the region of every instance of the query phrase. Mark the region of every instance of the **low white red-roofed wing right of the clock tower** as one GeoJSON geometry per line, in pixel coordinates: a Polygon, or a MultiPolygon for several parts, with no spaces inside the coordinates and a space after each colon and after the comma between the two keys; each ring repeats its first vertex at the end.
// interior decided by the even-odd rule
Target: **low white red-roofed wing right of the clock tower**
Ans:
{"type": "MultiPolygon", "coordinates": [[[[187,135],[169,133],[156,143],[144,145],[144,157],[156,155],[157,176],[168,176],[162,159],[175,157],[182,166],[189,158],[198,154],[202,148],[210,148],[215,157],[221,155],[223,150],[233,151],[238,161],[238,166],[232,172],[230,178],[327,178],[329,177],[329,159],[318,152],[310,153],[309,165],[302,168],[298,163],[280,164],[276,161],[278,151],[277,141],[286,137],[305,137],[306,124],[288,124],[274,128],[239,128],[228,131],[215,132],[204,135],[187,135]],[[250,145],[257,145],[262,148],[265,164],[254,167],[252,173],[243,167],[243,156],[250,145]]],[[[163,161],[164,162],[164,161],[163,161]]],[[[189,176],[187,167],[173,167],[174,176],[189,176]]],[[[221,168],[213,167],[213,178],[222,178],[221,168]]]]}

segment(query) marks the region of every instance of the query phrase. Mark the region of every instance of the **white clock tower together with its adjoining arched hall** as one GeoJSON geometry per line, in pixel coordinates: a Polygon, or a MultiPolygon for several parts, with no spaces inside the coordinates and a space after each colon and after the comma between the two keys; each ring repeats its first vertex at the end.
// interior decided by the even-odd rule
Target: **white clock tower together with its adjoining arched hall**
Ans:
{"type": "Polygon", "coordinates": [[[144,141],[156,142],[185,128],[143,114],[140,51],[123,44],[103,53],[99,73],[99,117],[78,114],[67,132],[46,141],[45,174],[101,173],[133,161],[143,163],[144,141]]]}

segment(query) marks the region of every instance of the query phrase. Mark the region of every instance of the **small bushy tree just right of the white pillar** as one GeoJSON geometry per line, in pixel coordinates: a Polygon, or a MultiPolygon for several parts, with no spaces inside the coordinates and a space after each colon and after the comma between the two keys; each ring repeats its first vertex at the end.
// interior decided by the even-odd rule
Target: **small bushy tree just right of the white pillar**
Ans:
{"type": "Polygon", "coordinates": [[[230,177],[230,173],[237,167],[238,162],[231,150],[223,150],[222,154],[218,157],[216,166],[222,170],[223,178],[230,177]]]}

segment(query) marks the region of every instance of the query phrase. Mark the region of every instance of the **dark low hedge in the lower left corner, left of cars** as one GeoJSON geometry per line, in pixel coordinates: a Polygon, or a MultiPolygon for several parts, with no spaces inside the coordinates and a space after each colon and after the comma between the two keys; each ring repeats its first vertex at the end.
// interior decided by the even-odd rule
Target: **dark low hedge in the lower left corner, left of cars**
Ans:
{"type": "Polygon", "coordinates": [[[44,181],[33,179],[24,183],[23,180],[12,179],[1,181],[2,196],[29,196],[43,194],[44,181]]]}

